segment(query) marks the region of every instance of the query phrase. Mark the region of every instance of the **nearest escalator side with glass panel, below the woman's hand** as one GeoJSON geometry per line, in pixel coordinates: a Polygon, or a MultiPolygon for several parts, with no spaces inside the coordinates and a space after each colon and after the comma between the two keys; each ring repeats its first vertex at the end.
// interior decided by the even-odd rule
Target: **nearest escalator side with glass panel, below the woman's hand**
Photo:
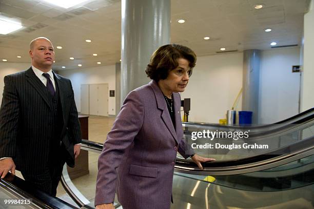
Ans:
{"type": "MultiPolygon", "coordinates": [[[[171,208],[313,208],[313,140],[290,145],[289,156],[217,161],[204,164],[204,170],[178,159],[171,208]]],[[[97,153],[102,149],[89,141],[82,147],[97,153]]],[[[89,201],[85,208],[93,208],[93,199],[89,201]]]]}

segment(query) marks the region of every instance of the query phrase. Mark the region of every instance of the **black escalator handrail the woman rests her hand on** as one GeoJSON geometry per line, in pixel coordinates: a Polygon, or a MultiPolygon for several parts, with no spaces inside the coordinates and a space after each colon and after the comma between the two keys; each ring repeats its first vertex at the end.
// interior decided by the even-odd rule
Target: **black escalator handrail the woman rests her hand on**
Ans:
{"type": "MultiPolygon", "coordinates": [[[[100,143],[82,140],[83,149],[90,149],[90,147],[93,147],[93,149],[97,150],[99,153],[102,150],[102,145],[100,143]]],[[[190,159],[176,158],[175,171],[181,173],[192,172],[192,174],[199,175],[213,173],[214,175],[244,174],[283,165],[313,154],[314,136],[256,156],[203,163],[204,170],[199,169],[197,164],[190,159]],[[287,154],[279,155],[278,153],[287,154]]]]}

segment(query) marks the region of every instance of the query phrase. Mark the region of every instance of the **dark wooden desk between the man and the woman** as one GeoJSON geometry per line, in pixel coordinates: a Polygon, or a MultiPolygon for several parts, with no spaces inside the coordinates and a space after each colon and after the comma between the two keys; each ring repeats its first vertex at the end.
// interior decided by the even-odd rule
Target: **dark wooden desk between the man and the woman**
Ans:
{"type": "MultiPolygon", "coordinates": [[[[81,123],[82,139],[88,140],[88,116],[78,116],[81,123]]],[[[82,150],[80,155],[75,159],[75,167],[68,166],[68,173],[71,179],[89,174],[88,169],[88,151],[82,150]]]]}

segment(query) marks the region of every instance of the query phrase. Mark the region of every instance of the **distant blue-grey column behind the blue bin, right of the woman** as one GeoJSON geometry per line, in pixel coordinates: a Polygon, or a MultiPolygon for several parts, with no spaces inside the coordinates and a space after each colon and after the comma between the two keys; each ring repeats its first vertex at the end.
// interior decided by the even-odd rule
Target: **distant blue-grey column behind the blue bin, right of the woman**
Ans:
{"type": "Polygon", "coordinates": [[[242,110],[252,111],[252,123],[258,123],[261,51],[243,51],[242,110]]]}

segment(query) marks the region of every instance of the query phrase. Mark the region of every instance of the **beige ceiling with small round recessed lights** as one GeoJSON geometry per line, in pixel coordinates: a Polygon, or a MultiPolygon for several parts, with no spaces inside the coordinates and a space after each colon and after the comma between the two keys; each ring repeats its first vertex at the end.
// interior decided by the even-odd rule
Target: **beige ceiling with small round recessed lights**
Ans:
{"type": "MultiPolygon", "coordinates": [[[[149,0],[148,0],[149,1],[149,0]]],[[[300,44],[303,16],[310,0],[171,0],[171,43],[198,56],[300,44]],[[264,4],[262,9],[254,5],[264,4]],[[186,20],[179,24],[178,19],[186,20]],[[264,32],[271,28],[271,32],[264,32]],[[209,36],[209,40],[204,40],[209,36]]],[[[22,29],[0,34],[0,62],[30,62],[29,42],[48,37],[55,49],[54,69],[113,65],[121,54],[121,1],[89,0],[63,9],[41,0],[0,0],[0,15],[21,22],[22,29]],[[85,42],[92,40],[91,43],[85,42]],[[93,56],[97,53],[97,56],[93,56]],[[17,58],[20,55],[22,58],[17,58]],[[74,60],[69,58],[73,57],[74,60]],[[101,62],[102,64],[96,64],[101,62]]]]}

